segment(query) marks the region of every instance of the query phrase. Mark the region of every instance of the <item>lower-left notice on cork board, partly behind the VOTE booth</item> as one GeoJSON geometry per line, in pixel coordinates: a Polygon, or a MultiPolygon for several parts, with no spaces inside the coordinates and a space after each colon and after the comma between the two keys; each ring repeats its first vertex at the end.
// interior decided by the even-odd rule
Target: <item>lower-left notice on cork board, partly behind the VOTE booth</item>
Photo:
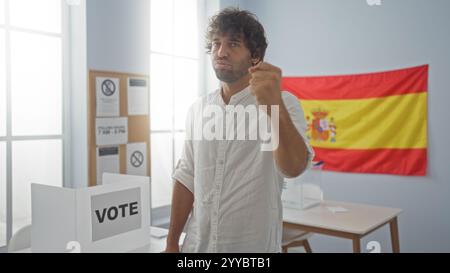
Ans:
{"type": "Polygon", "coordinates": [[[97,148],[97,185],[102,185],[103,173],[119,173],[119,146],[97,148]]]}

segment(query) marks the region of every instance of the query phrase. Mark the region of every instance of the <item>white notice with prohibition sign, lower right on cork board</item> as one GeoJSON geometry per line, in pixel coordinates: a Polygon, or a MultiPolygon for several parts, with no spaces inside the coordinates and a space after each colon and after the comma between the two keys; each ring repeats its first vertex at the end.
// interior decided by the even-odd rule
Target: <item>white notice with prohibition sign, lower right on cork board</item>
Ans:
{"type": "Polygon", "coordinates": [[[147,144],[127,145],[127,174],[147,176],[147,144]]]}

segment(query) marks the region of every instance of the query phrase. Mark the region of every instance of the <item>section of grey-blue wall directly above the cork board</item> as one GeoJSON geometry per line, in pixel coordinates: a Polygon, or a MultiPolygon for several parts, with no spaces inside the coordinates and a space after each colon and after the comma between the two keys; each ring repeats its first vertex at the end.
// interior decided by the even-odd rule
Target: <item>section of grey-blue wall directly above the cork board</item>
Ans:
{"type": "Polygon", "coordinates": [[[88,67],[148,74],[150,1],[88,0],[88,67]]]}

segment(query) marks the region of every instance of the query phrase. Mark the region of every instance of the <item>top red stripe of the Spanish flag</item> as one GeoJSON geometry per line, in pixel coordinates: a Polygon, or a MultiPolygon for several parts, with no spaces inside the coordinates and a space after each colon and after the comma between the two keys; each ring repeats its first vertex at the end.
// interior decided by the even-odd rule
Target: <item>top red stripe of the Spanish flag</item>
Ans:
{"type": "Polygon", "coordinates": [[[428,90],[428,65],[378,73],[283,77],[282,89],[299,99],[335,100],[379,98],[428,90]]]}

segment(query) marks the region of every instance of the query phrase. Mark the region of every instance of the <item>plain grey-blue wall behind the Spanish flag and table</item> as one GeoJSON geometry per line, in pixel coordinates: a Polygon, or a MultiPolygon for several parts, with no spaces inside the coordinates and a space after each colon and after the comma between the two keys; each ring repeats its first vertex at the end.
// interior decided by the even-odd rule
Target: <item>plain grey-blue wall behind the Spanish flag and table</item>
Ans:
{"type": "MultiPolygon", "coordinates": [[[[326,199],[402,208],[402,251],[450,251],[450,1],[241,0],[266,28],[267,61],[284,75],[335,75],[430,64],[427,177],[327,172],[326,199]]],[[[389,228],[363,240],[391,251],[389,228]]],[[[351,242],[316,235],[313,251],[351,251],[351,242]]]]}

